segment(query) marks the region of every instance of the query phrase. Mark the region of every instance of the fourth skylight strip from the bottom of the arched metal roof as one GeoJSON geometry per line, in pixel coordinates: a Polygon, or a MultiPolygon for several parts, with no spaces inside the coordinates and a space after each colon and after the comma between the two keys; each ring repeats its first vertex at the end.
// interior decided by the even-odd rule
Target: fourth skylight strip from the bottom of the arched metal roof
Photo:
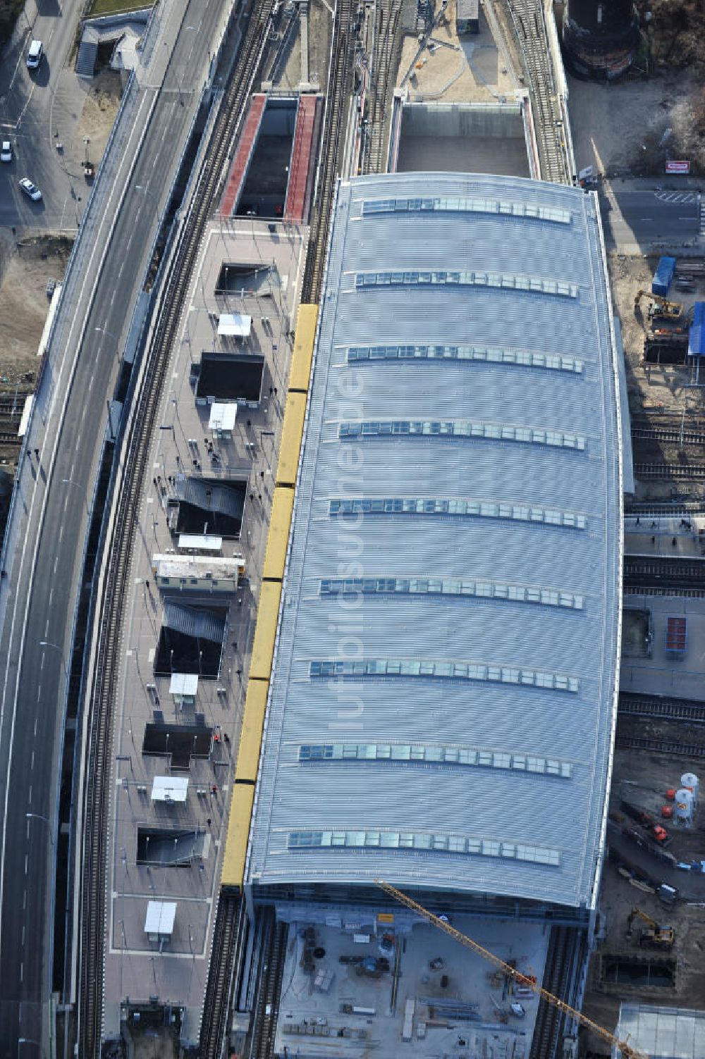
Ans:
{"type": "Polygon", "coordinates": [[[562,589],[510,581],[481,580],[459,577],[324,577],[319,585],[321,595],[442,595],[509,603],[533,603],[544,607],[583,610],[585,597],[562,589]]]}

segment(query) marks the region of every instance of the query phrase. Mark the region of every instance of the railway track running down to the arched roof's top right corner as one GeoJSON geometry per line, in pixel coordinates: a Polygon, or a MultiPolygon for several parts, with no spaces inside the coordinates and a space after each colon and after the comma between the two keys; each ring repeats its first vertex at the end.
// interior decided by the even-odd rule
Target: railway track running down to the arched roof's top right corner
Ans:
{"type": "Polygon", "coordinates": [[[531,94],[541,178],[571,183],[541,0],[504,0],[531,94]]]}

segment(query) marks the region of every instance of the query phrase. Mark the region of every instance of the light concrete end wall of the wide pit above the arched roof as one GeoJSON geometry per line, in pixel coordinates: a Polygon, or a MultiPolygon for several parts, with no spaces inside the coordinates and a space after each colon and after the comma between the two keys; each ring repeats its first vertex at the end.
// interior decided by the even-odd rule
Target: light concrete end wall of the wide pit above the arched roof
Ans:
{"type": "Polygon", "coordinates": [[[518,104],[407,103],[402,136],[497,137],[524,140],[518,104]]]}

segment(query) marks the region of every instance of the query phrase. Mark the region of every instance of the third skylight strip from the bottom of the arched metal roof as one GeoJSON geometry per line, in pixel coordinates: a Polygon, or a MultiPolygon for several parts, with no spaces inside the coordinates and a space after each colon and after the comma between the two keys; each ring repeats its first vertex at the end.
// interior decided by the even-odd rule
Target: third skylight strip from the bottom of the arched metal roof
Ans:
{"type": "Polygon", "coordinates": [[[472,680],[492,684],[517,684],[524,687],[545,687],[553,692],[580,690],[578,677],[544,669],[487,662],[455,662],[439,659],[319,659],[309,664],[310,677],[354,679],[365,677],[412,677],[422,680],[472,680]]]}

